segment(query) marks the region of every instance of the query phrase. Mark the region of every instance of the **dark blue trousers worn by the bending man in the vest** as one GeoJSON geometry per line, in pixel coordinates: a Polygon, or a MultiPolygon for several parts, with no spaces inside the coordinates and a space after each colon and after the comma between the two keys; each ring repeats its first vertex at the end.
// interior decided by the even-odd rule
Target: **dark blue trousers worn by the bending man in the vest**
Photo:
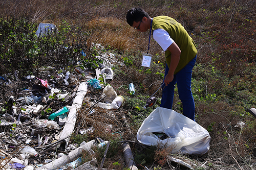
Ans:
{"type": "MultiPolygon", "coordinates": [[[[191,92],[192,69],[197,60],[197,56],[191,60],[183,69],[174,75],[174,80],[167,86],[162,86],[162,100],[160,107],[172,109],[174,100],[174,88],[177,83],[179,99],[183,105],[183,115],[195,121],[195,102],[191,92]]],[[[165,76],[169,68],[166,64],[165,76]]]]}

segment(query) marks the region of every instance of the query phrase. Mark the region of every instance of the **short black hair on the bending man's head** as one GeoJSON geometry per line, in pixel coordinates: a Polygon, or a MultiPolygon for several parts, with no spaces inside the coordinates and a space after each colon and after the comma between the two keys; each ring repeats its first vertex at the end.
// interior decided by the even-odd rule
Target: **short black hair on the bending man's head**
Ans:
{"type": "Polygon", "coordinates": [[[126,21],[130,26],[133,26],[133,22],[139,22],[143,17],[150,18],[143,9],[141,8],[132,8],[126,14],[126,21]]]}

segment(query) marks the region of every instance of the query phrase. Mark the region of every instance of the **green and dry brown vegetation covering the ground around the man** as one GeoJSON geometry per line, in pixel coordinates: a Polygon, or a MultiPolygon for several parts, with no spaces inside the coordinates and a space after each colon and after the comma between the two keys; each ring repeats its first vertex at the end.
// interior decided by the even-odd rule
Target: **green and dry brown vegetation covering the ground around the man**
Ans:
{"type": "MultiPolygon", "coordinates": [[[[211,136],[206,156],[187,157],[212,162],[221,157],[225,164],[236,165],[236,169],[239,166],[252,169],[256,160],[256,122],[247,109],[256,107],[255,1],[35,0],[33,3],[8,1],[0,4],[0,76],[8,78],[14,71],[19,72],[20,78],[37,75],[40,67],[48,66],[95,69],[102,63],[96,56],[108,50],[118,60],[113,66],[115,76],[110,85],[125,98],[122,109],[127,112],[135,140],[143,120],[160,104],[161,90],[155,94],[158,98],[155,106],[142,108],[163,81],[165,59],[161,48],[152,40],[152,65],[141,67],[148,33],[140,34],[128,26],[126,11],[141,7],[152,17],[168,15],[181,22],[197,44],[198,57],[191,84],[196,120],[211,136]],[[37,37],[35,32],[40,22],[54,23],[58,32],[37,37]],[[96,43],[105,46],[104,50],[96,43]],[[78,60],[81,62],[77,63],[78,60]],[[127,91],[132,82],[135,95],[127,91]],[[245,126],[237,127],[239,122],[245,126]]],[[[4,89],[6,85],[2,84],[0,99],[8,101],[4,89]]],[[[177,90],[173,109],[182,113],[177,90]]],[[[79,144],[85,139],[86,136],[77,135],[72,141],[79,144]]],[[[104,167],[123,169],[116,149],[112,148],[111,152],[113,145],[120,147],[120,143],[112,141],[104,167]]],[[[99,149],[97,160],[101,160],[104,149],[99,149]]],[[[136,147],[133,151],[142,166],[168,167],[168,150],[156,149],[152,155],[140,154],[136,147]],[[148,160],[152,157],[154,160],[148,160]]],[[[208,166],[214,169],[215,165],[208,163],[208,166]]]]}

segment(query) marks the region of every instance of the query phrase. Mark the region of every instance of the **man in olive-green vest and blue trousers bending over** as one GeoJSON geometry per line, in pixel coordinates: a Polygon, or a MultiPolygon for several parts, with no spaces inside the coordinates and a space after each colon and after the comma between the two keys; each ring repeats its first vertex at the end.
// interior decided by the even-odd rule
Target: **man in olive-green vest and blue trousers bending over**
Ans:
{"type": "Polygon", "coordinates": [[[165,52],[166,68],[160,107],[172,109],[177,83],[183,115],[195,120],[195,103],[191,92],[192,69],[197,59],[196,44],[184,27],[168,16],[151,18],[144,10],[133,8],[126,14],[126,21],[140,32],[152,29],[153,38],[165,52]]]}

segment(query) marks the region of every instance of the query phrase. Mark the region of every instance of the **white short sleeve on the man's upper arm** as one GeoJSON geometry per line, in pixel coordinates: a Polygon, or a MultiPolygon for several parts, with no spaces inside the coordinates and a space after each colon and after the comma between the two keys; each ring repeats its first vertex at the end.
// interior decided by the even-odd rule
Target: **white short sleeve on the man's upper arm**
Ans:
{"type": "Polygon", "coordinates": [[[163,51],[166,51],[167,48],[172,45],[174,40],[170,38],[167,31],[163,29],[157,29],[153,31],[153,38],[157,41],[157,43],[162,47],[163,51]]]}

